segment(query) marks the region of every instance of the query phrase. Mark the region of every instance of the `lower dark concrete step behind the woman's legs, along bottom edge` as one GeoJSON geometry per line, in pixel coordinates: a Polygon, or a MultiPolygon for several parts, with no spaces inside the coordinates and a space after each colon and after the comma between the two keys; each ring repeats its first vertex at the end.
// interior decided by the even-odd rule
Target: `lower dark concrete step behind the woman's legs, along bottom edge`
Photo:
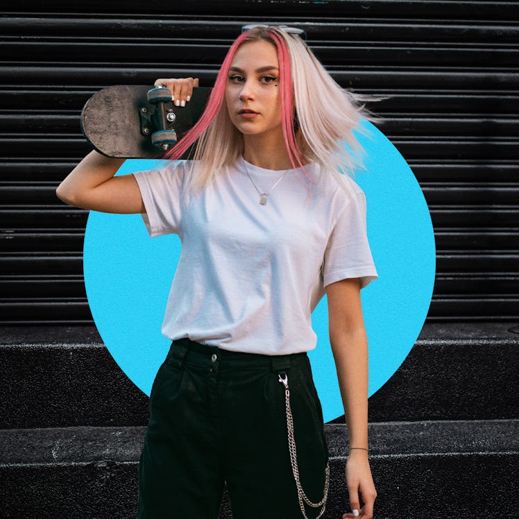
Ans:
{"type": "MultiPolygon", "coordinates": [[[[516,518],[519,420],[372,423],[369,428],[375,518],[516,518]]],[[[144,431],[1,430],[1,517],[135,517],[144,431]]],[[[323,517],[337,519],[346,511],[346,429],[328,424],[325,432],[331,481],[323,517]]],[[[225,496],[220,519],[231,517],[225,496]]]]}

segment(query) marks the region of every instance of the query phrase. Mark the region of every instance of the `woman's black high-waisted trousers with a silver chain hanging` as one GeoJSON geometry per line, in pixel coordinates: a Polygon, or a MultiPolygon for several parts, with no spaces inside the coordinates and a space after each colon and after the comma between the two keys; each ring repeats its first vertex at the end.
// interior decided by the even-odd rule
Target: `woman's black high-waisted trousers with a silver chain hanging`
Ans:
{"type": "MultiPolygon", "coordinates": [[[[327,445],[308,357],[173,341],[153,382],[139,463],[139,519],[215,519],[227,485],[234,519],[300,519],[289,457],[288,377],[298,467],[323,497],[327,445]]],[[[322,509],[306,507],[315,518],[322,509]]]]}

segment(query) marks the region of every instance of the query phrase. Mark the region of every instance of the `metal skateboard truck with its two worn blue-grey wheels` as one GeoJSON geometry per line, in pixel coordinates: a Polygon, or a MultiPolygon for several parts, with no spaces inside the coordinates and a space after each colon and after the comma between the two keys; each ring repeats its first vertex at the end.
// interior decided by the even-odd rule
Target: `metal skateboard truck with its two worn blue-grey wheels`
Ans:
{"type": "Polygon", "coordinates": [[[148,103],[155,106],[150,111],[146,106],[139,107],[139,119],[141,133],[151,135],[151,143],[162,151],[167,151],[177,142],[176,131],[173,130],[173,122],[176,119],[172,106],[171,90],[166,87],[156,87],[148,90],[148,103]]]}

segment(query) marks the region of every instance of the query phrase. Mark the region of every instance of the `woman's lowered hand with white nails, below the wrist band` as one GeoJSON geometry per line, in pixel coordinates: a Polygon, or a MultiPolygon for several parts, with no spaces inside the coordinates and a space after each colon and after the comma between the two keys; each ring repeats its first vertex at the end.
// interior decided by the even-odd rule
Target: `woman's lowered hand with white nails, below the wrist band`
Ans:
{"type": "Polygon", "coordinates": [[[373,518],[373,503],[377,497],[368,453],[365,450],[350,450],[346,461],[346,486],[350,494],[352,512],[343,514],[343,519],[358,517],[360,519],[373,518]],[[364,506],[360,507],[359,493],[364,506]]]}

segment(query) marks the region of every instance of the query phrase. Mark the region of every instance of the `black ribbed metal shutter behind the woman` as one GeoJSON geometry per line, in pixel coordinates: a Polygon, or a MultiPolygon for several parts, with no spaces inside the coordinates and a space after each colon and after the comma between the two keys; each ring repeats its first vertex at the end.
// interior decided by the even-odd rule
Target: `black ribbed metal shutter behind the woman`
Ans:
{"type": "Polygon", "coordinates": [[[79,128],[88,97],[164,75],[199,76],[210,86],[248,22],[304,27],[341,85],[389,96],[371,108],[387,119],[382,130],[416,174],[436,233],[429,321],[519,318],[518,3],[25,1],[12,8],[0,17],[2,323],[92,322],[81,257],[87,213],[54,194],[89,151],[79,128]]]}

